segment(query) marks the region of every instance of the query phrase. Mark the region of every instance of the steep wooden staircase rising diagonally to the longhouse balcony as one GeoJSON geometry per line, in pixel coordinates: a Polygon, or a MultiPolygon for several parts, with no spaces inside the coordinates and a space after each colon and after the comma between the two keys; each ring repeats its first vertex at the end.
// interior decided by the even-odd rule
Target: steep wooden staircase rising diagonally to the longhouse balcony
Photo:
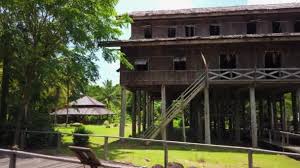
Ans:
{"type": "Polygon", "coordinates": [[[162,114],[155,123],[144,133],[143,138],[154,139],[174,117],[182,112],[183,108],[200,93],[207,85],[207,70],[205,70],[180,96],[167,108],[166,114],[162,114]]]}

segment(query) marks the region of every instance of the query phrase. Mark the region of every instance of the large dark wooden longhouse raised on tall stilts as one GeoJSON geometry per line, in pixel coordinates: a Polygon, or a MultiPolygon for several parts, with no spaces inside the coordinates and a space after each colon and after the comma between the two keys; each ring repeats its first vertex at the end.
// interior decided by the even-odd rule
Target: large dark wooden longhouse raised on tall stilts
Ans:
{"type": "Polygon", "coordinates": [[[182,116],[194,142],[256,147],[266,130],[299,132],[300,3],[131,13],[129,40],[119,46],[135,69],[121,65],[133,92],[133,136],[172,140],[182,116]],[[142,97],[142,98],[141,98],[142,97]],[[286,102],[291,101],[292,111],[286,102]],[[153,102],[161,101],[154,118],[153,102]],[[182,115],[183,107],[188,113],[182,115]]]}

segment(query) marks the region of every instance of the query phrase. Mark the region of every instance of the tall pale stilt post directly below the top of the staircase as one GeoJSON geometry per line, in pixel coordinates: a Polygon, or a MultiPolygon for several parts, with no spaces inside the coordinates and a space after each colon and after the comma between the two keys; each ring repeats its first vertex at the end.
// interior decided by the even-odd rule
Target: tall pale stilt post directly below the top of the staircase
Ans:
{"type": "Polygon", "coordinates": [[[204,129],[205,143],[210,144],[210,118],[209,118],[209,88],[204,89],[204,129]]]}

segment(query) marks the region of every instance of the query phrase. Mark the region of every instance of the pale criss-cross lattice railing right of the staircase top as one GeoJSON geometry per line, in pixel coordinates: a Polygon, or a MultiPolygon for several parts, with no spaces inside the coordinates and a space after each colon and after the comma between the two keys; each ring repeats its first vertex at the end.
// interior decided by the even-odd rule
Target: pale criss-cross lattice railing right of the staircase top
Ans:
{"type": "Polygon", "coordinates": [[[211,81],[299,80],[300,68],[209,69],[208,76],[211,81]]]}

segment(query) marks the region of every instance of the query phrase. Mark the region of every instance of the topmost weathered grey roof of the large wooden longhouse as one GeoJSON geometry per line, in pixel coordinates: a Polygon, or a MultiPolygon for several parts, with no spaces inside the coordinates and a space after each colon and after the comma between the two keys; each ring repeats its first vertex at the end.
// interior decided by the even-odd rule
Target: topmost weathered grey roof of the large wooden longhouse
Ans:
{"type": "Polygon", "coordinates": [[[224,16],[259,13],[299,12],[300,3],[283,3],[267,5],[242,5],[230,7],[191,8],[178,10],[137,11],[129,15],[134,20],[184,18],[202,16],[224,16]]]}

